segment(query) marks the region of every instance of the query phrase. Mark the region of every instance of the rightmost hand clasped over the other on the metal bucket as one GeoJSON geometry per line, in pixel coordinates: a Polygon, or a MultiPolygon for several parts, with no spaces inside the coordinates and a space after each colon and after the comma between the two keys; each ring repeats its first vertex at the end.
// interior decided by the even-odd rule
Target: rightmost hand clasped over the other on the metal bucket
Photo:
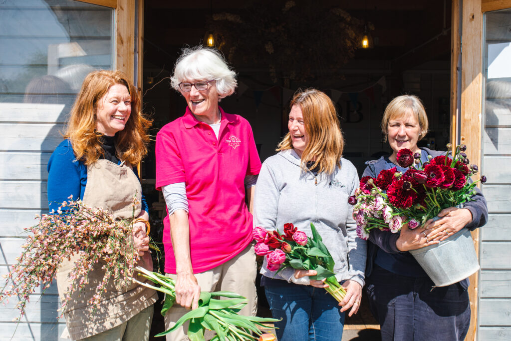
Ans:
{"type": "Polygon", "coordinates": [[[445,240],[472,221],[472,213],[468,209],[457,207],[444,209],[438,213],[438,216],[443,218],[432,221],[426,226],[429,240],[435,238],[440,241],[445,240]]]}

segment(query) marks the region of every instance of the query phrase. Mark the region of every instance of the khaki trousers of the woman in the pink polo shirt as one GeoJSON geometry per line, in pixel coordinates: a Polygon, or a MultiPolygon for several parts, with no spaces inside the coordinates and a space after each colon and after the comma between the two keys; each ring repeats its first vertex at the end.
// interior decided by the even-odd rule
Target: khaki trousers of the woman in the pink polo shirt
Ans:
{"type": "MultiPolygon", "coordinates": [[[[174,274],[166,275],[173,279],[176,278],[174,274]]],[[[257,313],[257,292],[255,291],[257,265],[252,244],[233,259],[211,270],[194,275],[201,291],[233,291],[246,297],[248,303],[240,310],[240,315],[255,316],[257,313]]],[[[174,326],[177,320],[188,311],[190,310],[175,304],[165,315],[165,330],[174,326]]],[[[188,330],[188,322],[176,331],[167,334],[167,341],[188,340],[186,330],[188,330]]]]}

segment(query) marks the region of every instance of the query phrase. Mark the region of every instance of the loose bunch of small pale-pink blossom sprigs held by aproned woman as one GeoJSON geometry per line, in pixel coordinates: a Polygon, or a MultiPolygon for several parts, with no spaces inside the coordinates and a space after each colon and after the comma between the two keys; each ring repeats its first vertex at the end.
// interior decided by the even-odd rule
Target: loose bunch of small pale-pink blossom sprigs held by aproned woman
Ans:
{"type": "Polygon", "coordinates": [[[133,245],[132,219],[115,219],[106,210],[92,209],[81,200],[69,199],[62,202],[57,212],[37,215],[39,223],[25,229],[29,236],[21,246],[21,256],[5,275],[7,281],[0,292],[0,302],[7,301],[8,297],[19,298],[16,308],[21,312],[17,320],[23,316],[30,294],[39,285],[43,291],[50,287],[62,262],[75,254],[79,254],[79,258],[69,278],[79,280],[68,287],[61,302],[60,316],[72,294],[81,292],[88,284],[89,271],[100,260],[105,275],[89,304],[99,308],[109,281],[117,288],[129,287],[132,283],[131,276],[140,259],[133,245]]]}

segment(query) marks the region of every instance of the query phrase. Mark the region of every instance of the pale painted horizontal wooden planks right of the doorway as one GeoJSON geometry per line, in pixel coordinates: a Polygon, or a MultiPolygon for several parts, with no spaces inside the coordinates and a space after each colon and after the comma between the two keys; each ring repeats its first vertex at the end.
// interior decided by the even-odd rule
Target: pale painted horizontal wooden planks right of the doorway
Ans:
{"type": "Polygon", "coordinates": [[[482,192],[490,216],[480,230],[478,339],[511,340],[511,98],[487,100],[484,116],[482,192]]]}

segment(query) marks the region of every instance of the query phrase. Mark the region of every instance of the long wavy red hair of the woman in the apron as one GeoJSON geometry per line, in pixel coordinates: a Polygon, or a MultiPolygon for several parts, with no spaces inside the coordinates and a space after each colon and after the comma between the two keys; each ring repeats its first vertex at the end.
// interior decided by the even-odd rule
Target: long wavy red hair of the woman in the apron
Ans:
{"type": "Polygon", "coordinates": [[[136,165],[147,154],[149,142],[147,129],[151,126],[151,120],[140,111],[140,99],[136,88],[120,71],[93,71],[83,81],[64,133],[64,138],[71,141],[76,160],[83,161],[85,165],[95,163],[105,153],[101,142],[103,134],[96,130],[98,126],[96,113],[99,101],[115,84],[125,85],[131,96],[131,114],[128,122],[123,130],[115,134],[117,157],[136,165]]]}

